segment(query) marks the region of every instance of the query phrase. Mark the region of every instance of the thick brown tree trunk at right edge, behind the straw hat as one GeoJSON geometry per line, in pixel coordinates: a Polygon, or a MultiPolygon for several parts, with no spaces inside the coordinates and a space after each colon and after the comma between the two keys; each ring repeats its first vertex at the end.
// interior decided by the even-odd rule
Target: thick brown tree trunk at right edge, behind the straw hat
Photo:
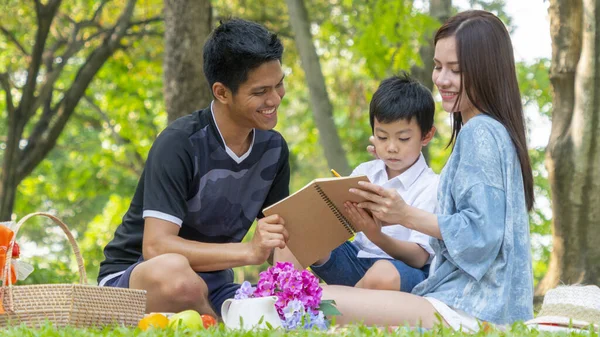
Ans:
{"type": "Polygon", "coordinates": [[[600,283],[600,0],[550,1],[553,249],[537,295],[600,283]]]}

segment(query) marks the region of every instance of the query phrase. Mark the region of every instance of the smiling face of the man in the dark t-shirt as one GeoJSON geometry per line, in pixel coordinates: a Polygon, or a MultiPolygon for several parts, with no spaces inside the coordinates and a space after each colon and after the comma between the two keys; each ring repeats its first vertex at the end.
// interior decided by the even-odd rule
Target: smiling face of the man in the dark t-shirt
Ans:
{"type": "Polygon", "coordinates": [[[231,101],[231,117],[247,128],[270,130],[277,125],[277,108],[285,95],[279,61],[269,61],[248,73],[231,101]]]}

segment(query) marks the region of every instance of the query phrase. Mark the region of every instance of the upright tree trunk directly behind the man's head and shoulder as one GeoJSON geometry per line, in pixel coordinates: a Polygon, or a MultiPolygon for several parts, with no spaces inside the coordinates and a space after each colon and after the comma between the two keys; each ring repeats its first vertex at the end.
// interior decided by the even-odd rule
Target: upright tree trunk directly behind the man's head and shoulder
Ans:
{"type": "Polygon", "coordinates": [[[202,49],[212,27],[210,0],[165,0],[164,92],[169,123],[208,106],[202,49]]]}

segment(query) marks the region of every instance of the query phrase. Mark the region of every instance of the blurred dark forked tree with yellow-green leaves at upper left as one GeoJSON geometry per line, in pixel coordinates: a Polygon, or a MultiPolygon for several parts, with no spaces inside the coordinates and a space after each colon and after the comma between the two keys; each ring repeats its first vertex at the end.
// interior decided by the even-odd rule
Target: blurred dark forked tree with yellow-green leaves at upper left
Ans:
{"type": "Polygon", "coordinates": [[[9,1],[12,10],[5,9],[0,21],[4,44],[15,52],[0,69],[7,125],[0,171],[2,220],[11,218],[17,187],[54,148],[100,68],[131,39],[154,33],[152,23],[159,20],[137,20],[135,0],[33,4],[32,9],[9,1]],[[80,11],[86,5],[94,8],[89,14],[80,11]],[[29,16],[8,17],[16,11],[29,16]]]}

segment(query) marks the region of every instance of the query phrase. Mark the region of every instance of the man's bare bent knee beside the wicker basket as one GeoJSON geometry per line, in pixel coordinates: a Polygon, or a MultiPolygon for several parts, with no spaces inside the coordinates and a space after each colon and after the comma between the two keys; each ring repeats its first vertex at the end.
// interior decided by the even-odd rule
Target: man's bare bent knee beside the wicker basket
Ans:
{"type": "Polygon", "coordinates": [[[129,288],[144,289],[146,312],[193,309],[217,316],[208,300],[208,286],[179,254],[164,254],[144,261],[131,272],[129,288]]]}

